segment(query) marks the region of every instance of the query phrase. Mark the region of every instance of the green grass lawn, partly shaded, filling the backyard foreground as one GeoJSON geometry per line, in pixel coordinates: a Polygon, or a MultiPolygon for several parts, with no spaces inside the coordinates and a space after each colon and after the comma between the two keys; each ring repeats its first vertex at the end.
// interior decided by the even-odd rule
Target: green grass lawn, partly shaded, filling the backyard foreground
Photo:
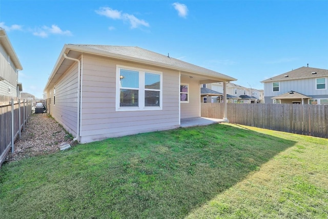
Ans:
{"type": "Polygon", "coordinates": [[[215,124],[0,169],[2,218],[327,218],[328,140],[215,124]]]}

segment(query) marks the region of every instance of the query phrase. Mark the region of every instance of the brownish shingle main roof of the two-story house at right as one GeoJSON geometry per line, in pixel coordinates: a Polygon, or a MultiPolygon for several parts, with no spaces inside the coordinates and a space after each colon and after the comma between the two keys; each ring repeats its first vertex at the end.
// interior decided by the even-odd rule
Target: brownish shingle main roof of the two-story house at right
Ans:
{"type": "Polygon", "coordinates": [[[281,81],[290,81],[295,79],[305,79],[305,78],[317,78],[317,77],[327,77],[328,70],[320,68],[311,68],[311,67],[301,67],[278,76],[271,77],[261,81],[261,83],[266,82],[281,82],[281,81]]]}

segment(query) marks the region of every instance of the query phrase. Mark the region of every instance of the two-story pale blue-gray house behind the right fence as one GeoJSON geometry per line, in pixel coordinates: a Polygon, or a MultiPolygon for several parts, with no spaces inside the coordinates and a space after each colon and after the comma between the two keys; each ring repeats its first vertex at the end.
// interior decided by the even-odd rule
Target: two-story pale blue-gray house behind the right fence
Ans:
{"type": "Polygon", "coordinates": [[[262,81],[264,102],[328,104],[328,70],[301,67],[262,81]]]}

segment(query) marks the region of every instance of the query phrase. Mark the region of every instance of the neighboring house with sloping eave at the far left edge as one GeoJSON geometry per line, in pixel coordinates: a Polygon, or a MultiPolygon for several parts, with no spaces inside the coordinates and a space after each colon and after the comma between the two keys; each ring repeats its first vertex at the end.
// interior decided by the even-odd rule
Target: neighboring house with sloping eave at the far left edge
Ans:
{"type": "Polygon", "coordinates": [[[0,27],[0,96],[19,97],[22,84],[18,70],[23,70],[5,29],[0,27]]]}

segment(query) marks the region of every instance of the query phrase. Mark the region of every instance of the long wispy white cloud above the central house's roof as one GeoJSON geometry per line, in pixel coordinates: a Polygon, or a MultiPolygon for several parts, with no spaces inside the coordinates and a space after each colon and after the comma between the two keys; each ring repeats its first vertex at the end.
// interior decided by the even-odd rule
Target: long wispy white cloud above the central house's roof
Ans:
{"type": "Polygon", "coordinates": [[[95,11],[99,15],[106,16],[111,19],[121,19],[122,21],[128,21],[131,28],[138,28],[139,26],[149,27],[149,23],[135,17],[133,14],[122,13],[121,11],[113,10],[109,7],[102,7],[95,11]]]}

